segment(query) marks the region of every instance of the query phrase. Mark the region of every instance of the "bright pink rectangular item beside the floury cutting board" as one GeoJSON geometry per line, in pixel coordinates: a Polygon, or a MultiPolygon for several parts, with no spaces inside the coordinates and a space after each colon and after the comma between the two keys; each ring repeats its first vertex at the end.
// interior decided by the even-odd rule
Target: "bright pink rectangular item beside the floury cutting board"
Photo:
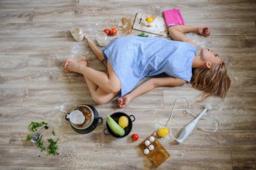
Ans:
{"type": "Polygon", "coordinates": [[[163,13],[167,28],[169,28],[170,26],[185,24],[180,9],[169,9],[167,11],[163,11],[163,13]]]}

